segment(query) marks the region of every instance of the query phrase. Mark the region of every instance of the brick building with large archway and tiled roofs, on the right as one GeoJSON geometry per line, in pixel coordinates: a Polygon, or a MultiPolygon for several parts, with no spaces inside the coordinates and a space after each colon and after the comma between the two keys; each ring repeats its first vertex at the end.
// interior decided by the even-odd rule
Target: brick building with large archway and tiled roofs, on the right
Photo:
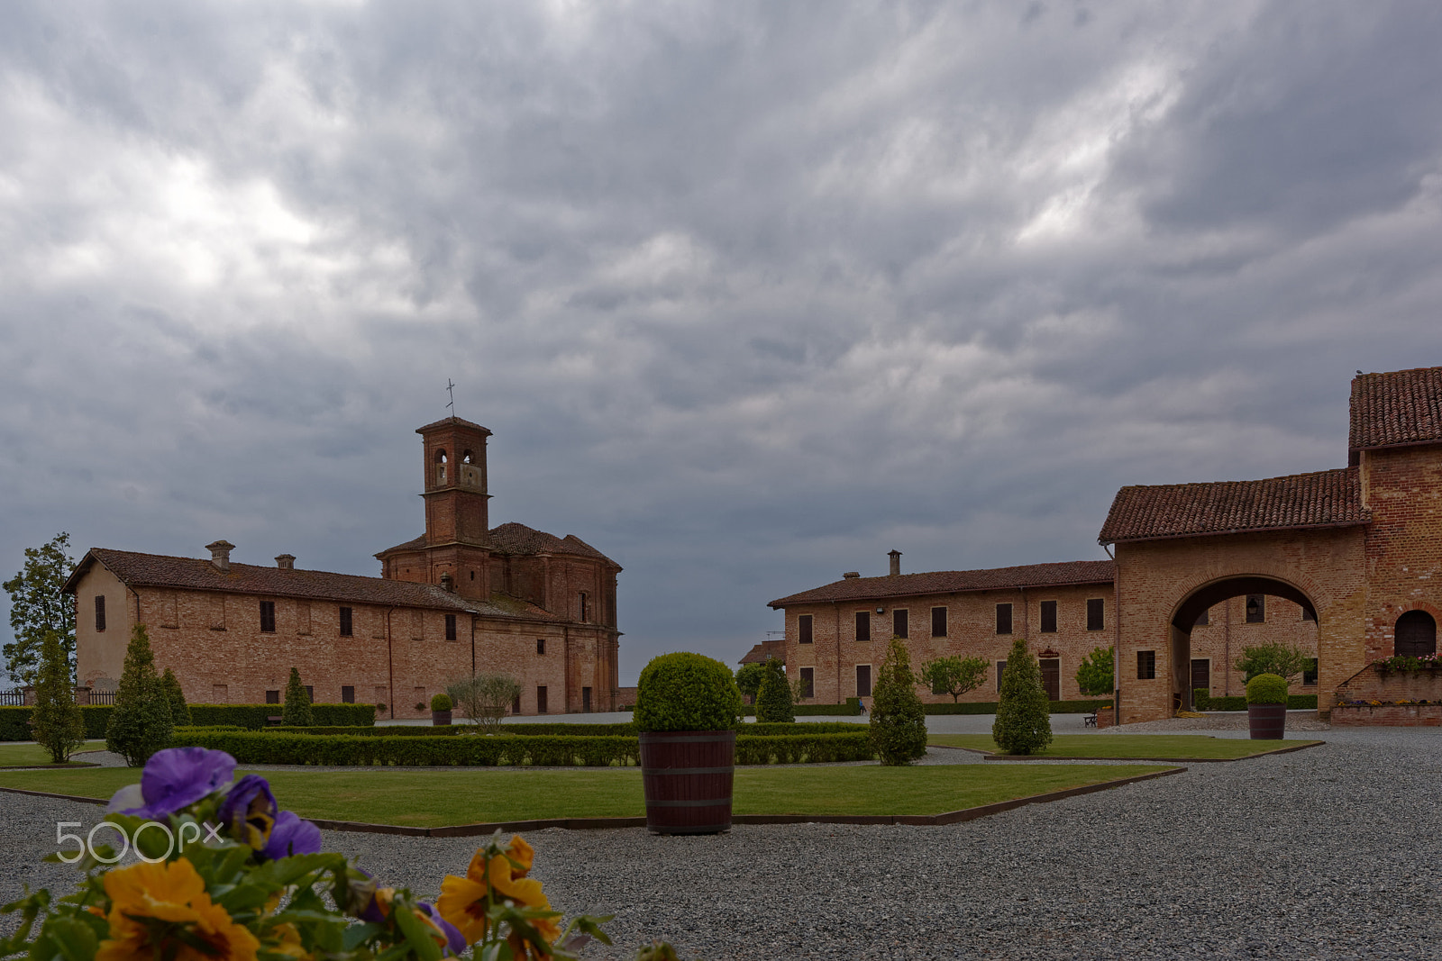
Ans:
{"type": "Polygon", "coordinates": [[[1113,560],[903,575],[893,552],[885,578],[848,573],[771,601],[787,670],[818,700],[864,696],[877,640],[894,633],[913,661],[996,661],[966,696],[994,700],[1021,633],[1053,699],[1073,699],[1080,660],[1113,645],[1125,723],[1190,707],[1194,687],[1243,693],[1230,667],[1242,648],[1280,640],[1317,656],[1293,692],[1318,693],[1327,713],[1371,661],[1436,651],[1442,367],[1355,377],[1348,447],[1348,465],[1328,471],[1123,487],[1099,536],[1113,560]]]}

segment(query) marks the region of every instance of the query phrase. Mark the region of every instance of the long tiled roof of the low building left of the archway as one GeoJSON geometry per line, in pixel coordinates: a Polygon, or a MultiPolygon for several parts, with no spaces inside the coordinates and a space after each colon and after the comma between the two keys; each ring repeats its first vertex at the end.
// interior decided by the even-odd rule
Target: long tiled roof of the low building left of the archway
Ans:
{"type": "Polygon", "coordinates": [[[932,571],[901,573],[894,578],[844,578],[812,591],[771,601],[769,607],[783,608],[818,601],[865,601],[960,591],[1110,584],[1115,576],[1110,560],[1061,560],[1057,563],[1028,563],[1018,568],[991,568],[988,571],[932,571]]]}

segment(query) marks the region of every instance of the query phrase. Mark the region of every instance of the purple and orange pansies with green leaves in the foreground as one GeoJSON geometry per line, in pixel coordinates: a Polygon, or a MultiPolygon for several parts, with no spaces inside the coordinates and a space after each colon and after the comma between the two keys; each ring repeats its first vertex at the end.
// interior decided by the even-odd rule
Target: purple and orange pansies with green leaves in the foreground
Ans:
{"type": "MultiPolygon", "coordinates": [[[[609,918],[565,928],[541,882],[534,852],[497,831],[464,877],[447,876],[433,905],[381,886],[343,854],[320,850],[320,828],[281,811],[270,784],[239,779],[222,751],[170,748],[140,784],[111,798],[102,824],[125,846],[82,846],[75,893],[26,892],[6,905],[20,925],[0,938],[0,958],[32,961],[477,961],[575,958],[609,918]],[[149,828],[149,830],[147,830],[149,828]],[[134,846],[137,863],[118,866],[134,846]]],[[[94,831],[91,837],[94,839],[94,831]]],[[[656,942],[637,955],[675,958],[656,942]]]]}

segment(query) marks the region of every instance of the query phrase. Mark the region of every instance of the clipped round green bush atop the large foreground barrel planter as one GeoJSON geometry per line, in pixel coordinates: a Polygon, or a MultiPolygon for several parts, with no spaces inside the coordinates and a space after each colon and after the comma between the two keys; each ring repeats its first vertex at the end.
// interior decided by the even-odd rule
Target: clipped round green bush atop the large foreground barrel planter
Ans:
{"type": "Polygon", "coordinates": [[[702,654],[653,657],[636,684],[637,730],[731,730],[740,716],[731,669],[702,654]]]}

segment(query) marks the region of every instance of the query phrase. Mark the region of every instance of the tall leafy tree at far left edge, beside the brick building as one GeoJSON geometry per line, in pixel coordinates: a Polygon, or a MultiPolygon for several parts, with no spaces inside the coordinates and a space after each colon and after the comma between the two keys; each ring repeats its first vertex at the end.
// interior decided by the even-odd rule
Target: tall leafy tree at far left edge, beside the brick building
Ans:
{"type": "Polygon", "coordinates": [[[61,594],[65,581],[75,571],[75,559],[66,550],[71,536],[63,530],[39,547],[25,549],[25,568],[4,582],[10,595],[10,630],[14,643],[0,648],[4,669],[20,684],[33,684],[40,667],[40,645],[46,631],[59,638],[65,663],[75,680],[75,601],[61,594]]]}

